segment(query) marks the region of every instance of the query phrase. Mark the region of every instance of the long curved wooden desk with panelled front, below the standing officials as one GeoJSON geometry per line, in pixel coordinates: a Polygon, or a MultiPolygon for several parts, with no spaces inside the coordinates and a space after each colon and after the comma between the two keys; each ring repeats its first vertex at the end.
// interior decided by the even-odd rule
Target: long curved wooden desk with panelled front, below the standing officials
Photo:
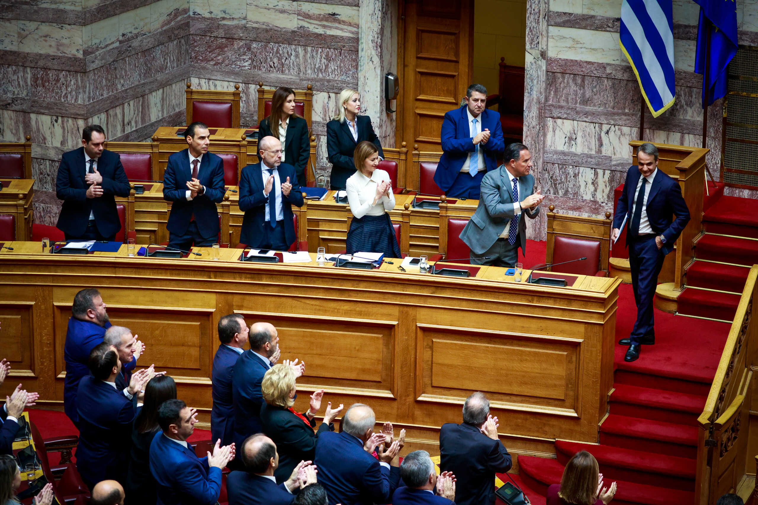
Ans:
{"type": "Polygon", "coordinates": [[[595,442],[606,414],[615,278],[577,276],[571,288],[549,288],[511,282],[497,267],[463,279],[400,273],[399,263],[380,270],[243,263],[239,249],[222,249],[212,261],[7,245],[14,251],[0,253],[0,348],[13,368],[0,395],[23,380],[39,391],[40,405],[61,406],[71,303],[92,287],[111,322],[146,342],[140,364],[168,370],[203,422],[216,327],[228,313],[274,324],[282,359],[305,361],[296,408],[305,410],[317,388],[333,404],[370,404],[377,422],[407,430],[404,452],[437,454],[439,427],[461,422],[472,391],[487,392],[512,454],[554,454],[556,438],[595,442]]]}

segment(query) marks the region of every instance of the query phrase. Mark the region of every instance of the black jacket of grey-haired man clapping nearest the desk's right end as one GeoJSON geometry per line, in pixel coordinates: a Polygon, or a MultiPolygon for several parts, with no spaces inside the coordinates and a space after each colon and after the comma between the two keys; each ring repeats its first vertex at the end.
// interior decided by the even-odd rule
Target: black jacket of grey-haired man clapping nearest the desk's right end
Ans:
{"type": "Polygon", "coordinates": [[[470,424],[448,422],[440,429],[440,472],[456,475],[456,505],[495,503],[495,472],[511,468],[503,442],[470,424]]]}

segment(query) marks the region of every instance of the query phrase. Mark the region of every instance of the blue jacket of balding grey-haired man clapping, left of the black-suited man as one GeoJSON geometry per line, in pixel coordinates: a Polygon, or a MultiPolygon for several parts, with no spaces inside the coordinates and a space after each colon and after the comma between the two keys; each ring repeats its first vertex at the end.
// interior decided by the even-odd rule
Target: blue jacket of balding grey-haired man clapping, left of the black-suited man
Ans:
{"type": "Polygon", "coordinates": [[[387,503],[400,480],[399,468],[380,465],[363,449],[362,441],[346,432],[319,434],[313,463],[329,505],[387,503]]]}

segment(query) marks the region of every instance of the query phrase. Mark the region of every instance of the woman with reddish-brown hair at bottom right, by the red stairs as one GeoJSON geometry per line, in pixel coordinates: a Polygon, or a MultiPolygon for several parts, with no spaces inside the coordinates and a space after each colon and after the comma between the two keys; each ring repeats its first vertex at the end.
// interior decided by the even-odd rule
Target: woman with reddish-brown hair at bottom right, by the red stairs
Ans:
{"type": "Polygon", "coordinates": [[[580,450],[566,463],[561,483],[547,488],[547,505],[608,505],[615,490],[615,482],[609,488],[603,487],[597,460],[580,450]]]}

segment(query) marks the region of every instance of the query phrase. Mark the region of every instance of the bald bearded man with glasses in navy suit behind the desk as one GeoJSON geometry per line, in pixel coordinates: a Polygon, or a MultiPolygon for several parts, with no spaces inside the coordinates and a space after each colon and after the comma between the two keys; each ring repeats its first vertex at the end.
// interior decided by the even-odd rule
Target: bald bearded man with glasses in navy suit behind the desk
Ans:
{"type": "Polygon", "coordinates": [[[240,243],[287,251],[297,240],[292,206],[302,207],[302,192],[295,167],[281,162],[279,139],[261,139],[260,154],[262,162],[243,168],[240,177],[240,243]]]}

